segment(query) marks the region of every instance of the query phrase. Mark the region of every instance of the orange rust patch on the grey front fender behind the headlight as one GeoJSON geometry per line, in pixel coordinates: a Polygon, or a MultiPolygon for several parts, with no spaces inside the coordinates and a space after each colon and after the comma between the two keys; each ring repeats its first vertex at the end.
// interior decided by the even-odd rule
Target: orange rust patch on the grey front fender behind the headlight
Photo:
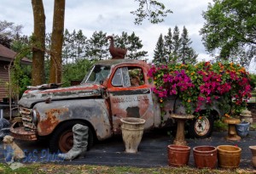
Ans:
{"type": "Polygon", "coordinates": [[[45,111],[45,119],[38,123],[38,133],[41,136],[49,135],[57,126],[61,120],[60,115],[68,112],[68,108],[49,109],[45,111]]]}

